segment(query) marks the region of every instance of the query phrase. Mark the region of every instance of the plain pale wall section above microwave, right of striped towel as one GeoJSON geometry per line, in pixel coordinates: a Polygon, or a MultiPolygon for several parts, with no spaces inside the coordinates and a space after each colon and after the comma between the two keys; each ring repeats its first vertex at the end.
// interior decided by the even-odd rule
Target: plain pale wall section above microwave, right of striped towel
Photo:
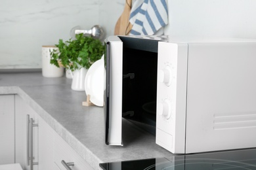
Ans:
{"type": "Polygon", "coordinates": [[[256,39],[255,0],[167,0],[165,34],[178,37],[256,39]]]}

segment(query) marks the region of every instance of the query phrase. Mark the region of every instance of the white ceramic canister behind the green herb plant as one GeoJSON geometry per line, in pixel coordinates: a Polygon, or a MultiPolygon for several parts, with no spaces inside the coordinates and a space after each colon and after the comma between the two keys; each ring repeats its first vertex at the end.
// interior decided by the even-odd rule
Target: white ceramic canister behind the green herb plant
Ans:
{"type": "Polygon", "coordinates": [[[60,77],[64,75],[63,67],[56,67],[50,63],[51,51],[58,49],[55,46],[42,46],[42,74],[45,77],[60,77]]]}

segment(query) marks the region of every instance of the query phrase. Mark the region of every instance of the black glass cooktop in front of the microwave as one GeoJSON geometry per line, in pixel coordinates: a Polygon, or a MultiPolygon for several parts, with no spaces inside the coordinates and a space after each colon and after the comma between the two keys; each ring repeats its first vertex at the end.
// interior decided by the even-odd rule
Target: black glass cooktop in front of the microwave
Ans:
{"type": "Polygon", "coordinates": [[[104,170],[256,170],[256,148],[100,163],[104,170]]]}

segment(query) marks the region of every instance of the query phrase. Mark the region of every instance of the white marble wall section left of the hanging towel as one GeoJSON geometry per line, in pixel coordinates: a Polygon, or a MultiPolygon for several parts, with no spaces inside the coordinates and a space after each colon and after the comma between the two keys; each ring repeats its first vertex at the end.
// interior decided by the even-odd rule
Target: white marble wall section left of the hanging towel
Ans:
{"type": "Polygon", "coordinates": [[[121,0],[2,0],[0,69],[41,68],[41,46],[70,39],[70,29],[101,25],[106,36],[123,11],[121,0]]]}

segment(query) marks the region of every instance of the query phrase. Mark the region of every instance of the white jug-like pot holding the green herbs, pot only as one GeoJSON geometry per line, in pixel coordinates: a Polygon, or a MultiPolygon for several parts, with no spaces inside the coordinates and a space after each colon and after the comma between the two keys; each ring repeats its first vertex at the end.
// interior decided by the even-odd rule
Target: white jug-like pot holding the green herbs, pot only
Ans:
{"type": "Polygon", "coordinates": [[[87,69],[85,68],[81,68],[73,72],[73,79],[72,79],[72,85],[71,85],[72,90],[85,91],[86,73],[87,73],[87,69]]]}

